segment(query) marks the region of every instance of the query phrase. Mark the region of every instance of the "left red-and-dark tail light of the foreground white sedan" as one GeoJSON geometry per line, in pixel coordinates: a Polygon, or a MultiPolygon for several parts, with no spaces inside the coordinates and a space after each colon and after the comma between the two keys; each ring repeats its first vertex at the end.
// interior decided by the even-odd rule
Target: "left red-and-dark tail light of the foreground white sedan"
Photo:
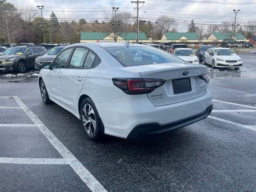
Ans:
{"type": "Polygon", "coordinates": [[[120,88],[126,94],[146,94],[162,86],[163,79],[148,78],[113,78],[113,84],[120,88]]]}

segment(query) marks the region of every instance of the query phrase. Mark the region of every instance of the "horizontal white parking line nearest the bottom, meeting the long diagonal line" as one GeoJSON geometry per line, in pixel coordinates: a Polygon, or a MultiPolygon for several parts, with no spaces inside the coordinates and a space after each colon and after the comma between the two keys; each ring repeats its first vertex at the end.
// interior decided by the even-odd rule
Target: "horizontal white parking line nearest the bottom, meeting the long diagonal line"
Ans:
{"type": "Polygon", "coordinates": [[[69,164],[69,159],[61,158],[10,158],[0,157],[0,163],[10,164],[69,164]]]}

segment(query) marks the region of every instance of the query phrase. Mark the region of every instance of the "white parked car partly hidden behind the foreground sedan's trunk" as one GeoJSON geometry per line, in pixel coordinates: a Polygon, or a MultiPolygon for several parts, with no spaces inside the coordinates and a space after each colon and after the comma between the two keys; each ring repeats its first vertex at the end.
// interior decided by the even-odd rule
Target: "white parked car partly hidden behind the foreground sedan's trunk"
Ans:
{"type": "Polygon", "coordinates": [[[192,64],[199,64],[199,60],[194,52],[194,50],[190,48],[176,48],[174,49],[173,53],[178,58],[182,60],[192,63],[192,64]]]}

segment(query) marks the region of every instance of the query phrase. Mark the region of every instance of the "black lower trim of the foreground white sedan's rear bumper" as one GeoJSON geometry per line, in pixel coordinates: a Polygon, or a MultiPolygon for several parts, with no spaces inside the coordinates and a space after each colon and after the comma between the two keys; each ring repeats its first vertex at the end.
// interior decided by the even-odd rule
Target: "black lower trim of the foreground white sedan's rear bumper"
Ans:
{"type": "Polygon", "coordinates": [[[175,122],[167,123],[164,125],[161,125],[156,122],[137,125],[127,136],[127,139],[136,140],[141,138],[149,138],[156,134],[161,134],[164,132],[182,128],[184,126],[195,123],[201,119],[205,119],[212,112],[212,108],[213,108],[213,104],[208,106],[206,110],[204,110],[199,114],[196,114],[175,122]]]}

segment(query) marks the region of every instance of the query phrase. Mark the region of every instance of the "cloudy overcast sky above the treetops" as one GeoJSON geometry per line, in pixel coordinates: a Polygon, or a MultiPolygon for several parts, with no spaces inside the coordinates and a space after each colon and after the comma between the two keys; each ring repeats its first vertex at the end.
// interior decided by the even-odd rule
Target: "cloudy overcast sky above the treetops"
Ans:
{"type": "MultiPolygon", "coordinates": [[[[247,20],[256,18],[256,0],[190,0],[204,1],[200,3],[178,2],[178,0],[172,0],[173,2],[170,0],[144,1],[144,5],[140,4],[140,19],[144,20],[150,19],[154,21],[161,14],[165,14],[175,18],[177,22],[189,22],[191,19],[194,19],[195,23],[216,24],[217,22],[221,22],[223,18],[234,16],[233,9],[241,10],[238,14],[241,25],[243,23],[245,24],[247,20]],[[225,2],[231,4],[215,4],[209,2],[225,2]],[[254,4],[245,4],[249,2],[254,4]]],[[[88,21],[90,21],[89,18],[92,18],[92,20],[95,20],[95,18],[104,18],[102,16],[102,8],[110,6],[109,0],[8,0],[8,2],[13,3],[15,6],[32,6],[35,8],[36,5],[44,5],[43,14],[46,18],[49,17],[48,14],[51,11],[54,11],[57,17],[61,18],[63,17],[61,16],[61,11],[65,10],[64,17],[66,18],[85,18],[88,21]]],[[[136,17],[136,10],[134,10],[131,0],[116,0],[116,2],[119,4],[119,11],[129,11],[136,17]]],[[[177,28],[179,32],[186,32],[187,25],[178,23],[177,28]]]]}

